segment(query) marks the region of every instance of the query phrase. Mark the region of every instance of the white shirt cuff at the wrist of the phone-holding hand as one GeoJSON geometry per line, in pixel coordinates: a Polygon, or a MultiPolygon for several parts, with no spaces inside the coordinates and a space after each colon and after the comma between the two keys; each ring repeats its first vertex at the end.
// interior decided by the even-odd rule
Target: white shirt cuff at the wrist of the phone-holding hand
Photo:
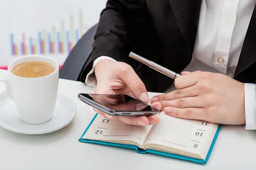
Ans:
{"type": "Polygon", "coordinates": [[[86,75],[86,79],[85,79],[85,84],[89,85],[89,86],[93,86],[94,88],[97,85],[97,79],[95,77],[94,74],[94,68],[95,65],[102,59],[110,59],[112,61],[116,61],[115,59],[108,57],[108,56],[101,56],[101,57],[97,57],[96,59],[93,60],[93,68],[91,69],[91,71],[86,75]]]}

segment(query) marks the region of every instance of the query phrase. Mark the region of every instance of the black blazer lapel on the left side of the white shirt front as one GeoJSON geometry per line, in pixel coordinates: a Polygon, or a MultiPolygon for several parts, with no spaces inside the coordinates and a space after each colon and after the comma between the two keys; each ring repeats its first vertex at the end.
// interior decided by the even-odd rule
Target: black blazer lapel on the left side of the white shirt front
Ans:
{"type": "Polygon", "coordinates": [[[191,52],[194,50],[195,38],[202,0],[169,0],[177,25],[188,43],[191,52]]]}

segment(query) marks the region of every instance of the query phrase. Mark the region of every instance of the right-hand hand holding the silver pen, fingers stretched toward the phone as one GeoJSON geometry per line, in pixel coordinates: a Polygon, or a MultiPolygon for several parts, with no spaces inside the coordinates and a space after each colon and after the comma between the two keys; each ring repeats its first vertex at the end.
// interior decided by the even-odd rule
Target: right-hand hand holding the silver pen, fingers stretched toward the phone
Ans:
{"type": "Polygon", "coordinates": [[[224,74],[196,71],[183,72],[175,79],[175,87],[154,96],[151,105],[178,118],[245,124],[244,83],[224,74]]]}

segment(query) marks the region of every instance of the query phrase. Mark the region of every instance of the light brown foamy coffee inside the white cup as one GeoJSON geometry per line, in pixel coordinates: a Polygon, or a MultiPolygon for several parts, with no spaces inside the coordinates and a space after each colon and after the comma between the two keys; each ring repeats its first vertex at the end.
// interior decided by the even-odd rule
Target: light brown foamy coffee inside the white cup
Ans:
{"type": "Polygon", "coordinates": [[[37,78],[52,74],[55,68],[47,62],[23,62],[12,69],[12,74],[19,77],[37,78]]]}

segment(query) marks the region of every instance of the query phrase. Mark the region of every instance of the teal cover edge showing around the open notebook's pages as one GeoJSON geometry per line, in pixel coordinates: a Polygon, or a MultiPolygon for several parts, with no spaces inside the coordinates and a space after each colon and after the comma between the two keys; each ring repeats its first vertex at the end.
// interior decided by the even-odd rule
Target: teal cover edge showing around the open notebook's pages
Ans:
{"type": "Polygon", "coordinates": [[[190,158],[190,157],[187,157],[187,156],[177,155],[177,154],[174,154],[174,153],[161,152],[161,151],[158,151],[158,150],[151,150],[151,149],[143,150],[143,149],[140,149],[139,147],[137,147],[136,145],[132,145],[132,144],[117,144],[117,143],[113,143],[113,142],[103,142],[103,141],[95,141],[95,140],[83,139],[82,137],[87,132],[87,130],[89,129],[90,125],[93,123],[93,121],[94,121],[94,119],[96,118],[97,115],[98,115],[98,113],[96,113],[96,115],[93,117],[93,119],[90,122],[90,124],[84,130],[84,133],[79,138],[80,142],[94,143],[94,144],[104,144],[104,145],[116,146],[116,147],[125,147],[125,148],[135,149],[137,151],[137,153],[154,153],[154,154],[157,154],[157,155],[169,156],[169,157],[176,158],[176,159],[183,159],[183,160],[187,160],[187,161],[193,161],[193,162],[196,162],[196,163],[199,163],[199,164],[206,164],[207,161],[209,160],[209,157],[210,157],[210,155],[212,153],[212,149],[214,147],[215,141],[216,141],[216,139],[218,137],[218,133],[219,133],[219,131],[221,129],[221,125],[218,125],[218,129],[217,129],[217,131],[215,133],[215,136],[214,136],[214,138],[212,140],[212,144],[211,144],[211,146],[209,148],[207,157],[206,157],[205,160],[202,160],[202,159],[195,159],[195,158],[190,158]]]}

